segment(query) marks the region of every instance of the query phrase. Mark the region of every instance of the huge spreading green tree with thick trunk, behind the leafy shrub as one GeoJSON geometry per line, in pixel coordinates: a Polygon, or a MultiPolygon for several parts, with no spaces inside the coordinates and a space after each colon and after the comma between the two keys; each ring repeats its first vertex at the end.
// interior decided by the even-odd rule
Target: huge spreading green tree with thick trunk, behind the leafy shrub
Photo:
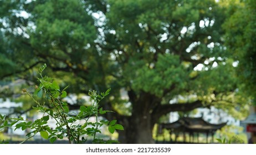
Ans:
{"type": "Polygon", "coordinates": [[[223,45],[224,8],[214,0],[0,1],[0,7],[0,77],[33,81],[34,67],[47,63],[48,74],[63,77],[72,93],[111,87],[102,106],[116,111],[107,118],[124,126],[122,143],[153,143],[153,126],[172,111],[243,110],[223,45]],[[179,96],[186,100],[172,100],[179,96]]]}

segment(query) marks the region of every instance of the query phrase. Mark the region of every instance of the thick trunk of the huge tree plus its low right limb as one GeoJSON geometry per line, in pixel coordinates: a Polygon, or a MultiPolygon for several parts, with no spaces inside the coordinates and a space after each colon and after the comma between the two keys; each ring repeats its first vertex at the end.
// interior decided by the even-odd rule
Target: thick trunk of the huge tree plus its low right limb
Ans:
{"type": "Polygon", "coordinates": [[[146,92],[141,92],[139,97],[133,91],[129,91],[128,95],[132,103],[132,115],[117,117],[119,123],[124,126],[124,131],[118,131],[120,143],[155,143],[152,129],[162,115],[170,111],[188,111],[202,106],[201,101],[161,105],[161,98],[146,92]]]}

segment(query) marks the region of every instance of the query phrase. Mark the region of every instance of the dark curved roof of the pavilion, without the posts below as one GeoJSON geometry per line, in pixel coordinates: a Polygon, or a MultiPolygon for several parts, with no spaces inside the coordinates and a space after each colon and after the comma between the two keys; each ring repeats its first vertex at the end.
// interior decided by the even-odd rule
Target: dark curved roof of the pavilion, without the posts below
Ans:
{"type": "Polygon", "coordinates": [[[162,128],[173,129],[173,130],[185,130],[193,132],[209,132],[221,129],[223,126],[227,125],[227,122],[221,124],[212,124],[203,120],[202,117],[192,118],[192,117],[182,117],[176,122],[163,123],[162,128]]]}

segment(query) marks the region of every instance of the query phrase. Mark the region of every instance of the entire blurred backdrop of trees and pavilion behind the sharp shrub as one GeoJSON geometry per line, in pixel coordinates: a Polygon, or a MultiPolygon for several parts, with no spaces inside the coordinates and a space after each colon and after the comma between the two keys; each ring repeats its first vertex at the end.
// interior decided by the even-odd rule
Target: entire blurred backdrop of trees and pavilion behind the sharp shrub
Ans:
{"type": "MultiPolygon", "coordinates": [[[[255,143],[255,9],[253,0],[0,0],[0,113],[40,117],[22,89],[33,94],[45,63],[44,75],[69,85],[70,110],[111,88],[100,106],[114,113],[103,119],[125,130],[103,128],[103,138],[255,143]]],[[[0,140],[29,132],[13,129],[0,140]]]]}

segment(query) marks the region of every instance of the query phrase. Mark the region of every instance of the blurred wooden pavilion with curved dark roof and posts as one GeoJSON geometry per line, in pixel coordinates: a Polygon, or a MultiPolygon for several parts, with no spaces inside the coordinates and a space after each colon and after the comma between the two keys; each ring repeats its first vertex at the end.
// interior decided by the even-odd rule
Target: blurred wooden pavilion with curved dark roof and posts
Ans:
{"type": "MultiPolygon", "coordinates": [[[[183,142],[186,139],[186,133],[190,136],[190,142],[194,142],[194,136],[197,136],[197,142],[199,143],[199,133],[206,134],[206,143],[208,143],[208,136],[212,136],[213,142],[213,135],[214,133],[221,129],[223,126],[226,126],[227,122],[221,124],[212,124],[203,120],[202,117],[192,118],[192,117],[182,117],[176,122],[172,123],[161,123],[158,124],[158,134],[163,133],[163,129],[166,129],[170,132],[175,134],[175,141],[177,142],[177,137],[180,133],[183,133],[183,142]],[[191,141],[192,140],[192,141],[191,141]]],[[[171,139],[172,141],[172,139],[171,139]]]]}

